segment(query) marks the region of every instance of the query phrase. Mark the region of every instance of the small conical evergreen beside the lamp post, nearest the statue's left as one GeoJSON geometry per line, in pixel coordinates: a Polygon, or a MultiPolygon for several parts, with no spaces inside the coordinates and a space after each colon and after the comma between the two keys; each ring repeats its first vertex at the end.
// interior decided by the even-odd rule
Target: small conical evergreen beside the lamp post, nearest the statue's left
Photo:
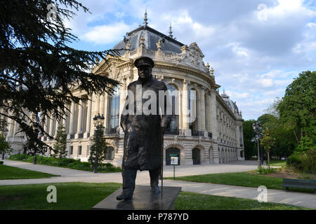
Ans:
{"type": "Polygon", "coordinates": [[[103,126],[98,125],[93,136],[93,144],[90,148],[89,162],[93,165],[93,172],[98,172],[98,166],[102,164],[105,159],[105,153],[107,152],[107,143],[103,135],[103,126]]]}

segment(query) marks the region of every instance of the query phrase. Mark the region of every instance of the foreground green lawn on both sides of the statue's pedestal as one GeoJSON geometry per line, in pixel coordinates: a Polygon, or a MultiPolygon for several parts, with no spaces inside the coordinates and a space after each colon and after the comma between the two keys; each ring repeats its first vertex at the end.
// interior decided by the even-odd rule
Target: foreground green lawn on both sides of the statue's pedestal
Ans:
{"type": "MultiPolygon", "coordinates": [[[[0,209],[91,209],[121,187],[120,183],[46,183],[0,186],[0,209]],[[48,186],[57,189],[57,203],[48,203],[48,186]]],[[[305,209],[285,204],[259,203],[256,200],[180,192],[176,209],[305,209]]]]}

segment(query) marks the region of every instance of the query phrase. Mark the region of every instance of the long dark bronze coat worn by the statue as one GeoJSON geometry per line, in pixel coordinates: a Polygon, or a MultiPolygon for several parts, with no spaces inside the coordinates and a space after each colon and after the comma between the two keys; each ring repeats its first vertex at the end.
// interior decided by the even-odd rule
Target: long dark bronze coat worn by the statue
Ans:
{"type": "MultiPolygon", "coordinates": [[[[124,156],[122,162],[123,169],[150,170],[157,169],[162,165],[162,119],[169,124],[171,116],[166,115],[166,97],[164,104],[164,115],[159,115],[159,90],[166,91],[166,84],[156,80],[151,76],[147,82],[140,83],[139,80],[129,84],[128,90],[134,95],[134,113],[121,115],[121,127],[124,130],[124,156]],[[136,115],[136,85],[142,87],[142,92],[152,90],[157,96],[156,115],[136,115]]],[[[138,89],[139,90],[139,89],[138,89]]],[[[129,96],[126,97],[125,109],[129,109],[128,103],[131,102],[129,96]]],[[[143,104],[149,99],[142,99],[143,104]]],[[[138,105],[139,106],[139,105],[138,105]]]]}

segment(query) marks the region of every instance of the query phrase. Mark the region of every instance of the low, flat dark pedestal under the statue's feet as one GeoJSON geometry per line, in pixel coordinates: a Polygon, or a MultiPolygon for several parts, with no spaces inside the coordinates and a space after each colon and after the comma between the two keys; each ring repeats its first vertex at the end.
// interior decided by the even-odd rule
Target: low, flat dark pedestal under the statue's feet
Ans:
{"type": "MultiPolygon", "coordinates": [[[[173,210],[174,201],[180,193],[180,187],[164,187],[163,198],[161,194],[154,195],[150,186],[136,186],[133,198],[128,201],[118,201],[122,188],[112,193],[96,204],[93,210],[173,210]]],[[[160,188],[161,190],[161,188],[160,188]]]]}

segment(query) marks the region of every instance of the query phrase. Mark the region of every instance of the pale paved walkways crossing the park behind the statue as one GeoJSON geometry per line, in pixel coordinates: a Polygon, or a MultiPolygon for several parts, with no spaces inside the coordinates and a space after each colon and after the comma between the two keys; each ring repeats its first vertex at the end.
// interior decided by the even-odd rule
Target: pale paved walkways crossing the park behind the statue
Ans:
{"type": "MultiPolygon", "coordinates": [[[[64,182],[87,182],[87,183],[122,183],[121,173],[98,173],[84,172],[77,169],[67,169],[60,167],[50,167],[46,165],[32,165],[28,162],[18,162],[5,160],[4,165],[30,169],[48,174],[60,175],[51,179],[22,179],[22,180],[0,180],[0,186],[20,185],[32,183],[64,183],[64,182]]],[[[238,161],[220,165],[197,165],[197,166],[178,166],[176,176],[189,176],[199,174],[215,174],[226,172],[244,172],[256,169],[256,161],[238,161]]],[[[173,176],[173,167],[164,167],[164,176],[173,176]]],[[[137,185],[148,185],[150,183],[147,171],[138,172],[136,178],[137,185]]],[[[257,200],[260,192],[257,188],[246,188],[239,186],[228,186],[213,183],[195,183],[188,181],[164,180],[164,186],[180,186],[183,191],[192,193],[202,193],[206,195],[218,195],[226,197],[241,197],[257,200]]],[[[316,209],[316,195],[313,193],[294,193],[285,190],[268,189],[268,202],[291,204],[301,207],[316,209]]]]}

